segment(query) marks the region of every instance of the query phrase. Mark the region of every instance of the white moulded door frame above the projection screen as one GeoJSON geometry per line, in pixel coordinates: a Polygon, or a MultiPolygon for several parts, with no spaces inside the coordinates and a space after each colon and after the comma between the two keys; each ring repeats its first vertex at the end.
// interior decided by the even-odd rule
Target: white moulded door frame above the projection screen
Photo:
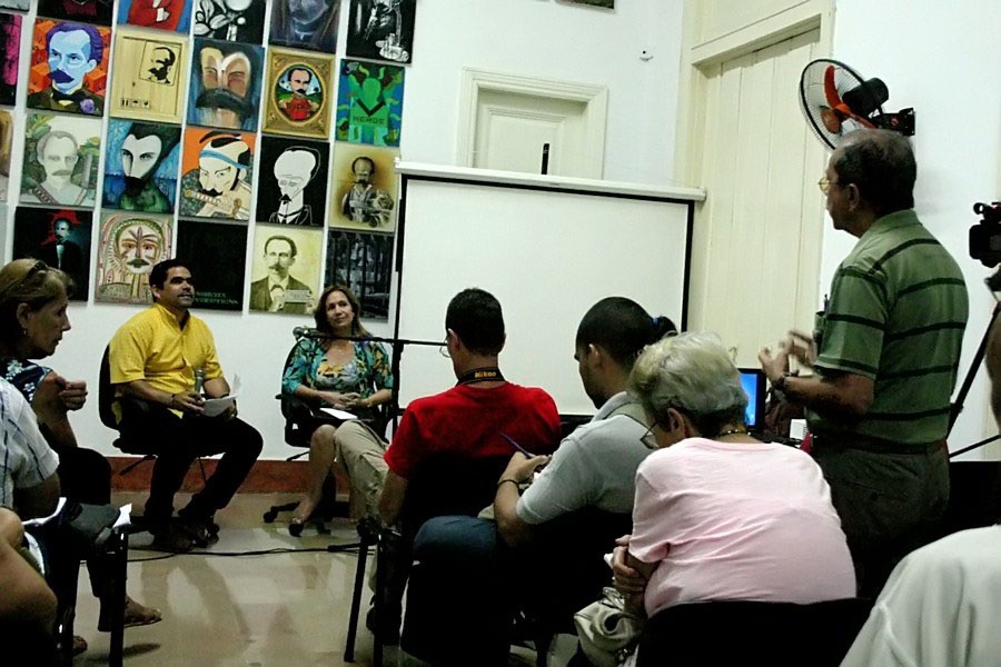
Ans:
{"type": "Polygon", "coordinates": [[[577,83],[495,72],[477,68],[463,68],[459,97],[458,137],[456,163],[473,167],[476,151],[477,115],[479,96],[484,91],[511,92],[522,96],[567,100],[584,104],[583,167],[587,178],[602,178],[605,166],[605,123],[608,115],[608,88],[592,83],[577,83]]]}

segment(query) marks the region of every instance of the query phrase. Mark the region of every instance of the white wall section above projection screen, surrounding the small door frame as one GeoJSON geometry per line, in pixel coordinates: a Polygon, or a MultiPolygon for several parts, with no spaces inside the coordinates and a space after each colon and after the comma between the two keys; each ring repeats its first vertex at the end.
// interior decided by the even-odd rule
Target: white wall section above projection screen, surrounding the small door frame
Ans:
{"type": "Polygon", "coordinates": [[[670,183],[681,14],[681,0],[618,0],[614,11],[553,0],[420,0],[403,159],[456,165],[460,76],[474,67],[607,86],[603,177],[670,183]],[[654,56],[647,62],[644,49],[654,56]]]}

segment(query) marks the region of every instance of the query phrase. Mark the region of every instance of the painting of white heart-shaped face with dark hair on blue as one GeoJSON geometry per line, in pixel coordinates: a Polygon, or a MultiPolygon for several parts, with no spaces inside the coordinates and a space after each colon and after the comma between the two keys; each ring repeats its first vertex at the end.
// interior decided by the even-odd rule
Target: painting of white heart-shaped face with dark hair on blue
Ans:
{"type": "Polygon", "coordinates": [[[178,126],[112,118],[105,139],[103,208],[172,213],[180,168],[178,126]]]}

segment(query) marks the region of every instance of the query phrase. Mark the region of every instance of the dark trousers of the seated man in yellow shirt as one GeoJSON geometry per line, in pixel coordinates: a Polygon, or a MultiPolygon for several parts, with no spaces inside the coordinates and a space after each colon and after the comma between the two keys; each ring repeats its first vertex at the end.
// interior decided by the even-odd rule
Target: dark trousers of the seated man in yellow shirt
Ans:
{"type": "Polygon", "coordinates": [[[180,512],[202,519],[229,504],[264,446],[257,429],[240,419],[180,418],[158,406],[150,406],[141,419],[126,412],[119,430],[138,454],[157,456],[146,501],[146,518],[153,524],[167,521],[174,514],[174,495],[195,459],[222,455],[215,474],[180,512]]]}

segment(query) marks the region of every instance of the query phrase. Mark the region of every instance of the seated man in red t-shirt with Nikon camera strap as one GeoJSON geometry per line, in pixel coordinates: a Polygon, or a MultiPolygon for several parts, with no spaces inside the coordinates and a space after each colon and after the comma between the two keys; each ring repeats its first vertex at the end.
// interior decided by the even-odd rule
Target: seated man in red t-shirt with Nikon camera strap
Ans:
{"type": "MultiPolygon", "coordinates": [[[[430,456],[507,459],[515,447],[505,436],[534,454],[549,454],[559,441],[559,415],[553,398],[542,389],[508,382],[500,374],[497,357],[505,332],[497,299],[482,289],[460,291],[448,303],[445,330],[458,379],[455,387],[410,401],[388,449],[371,429],[356,421],[338,427],[334,436],[337,461],[351,480],[353,491],[365,499],[366,512],[378,514],[387,526],[397,524],[409,480],[430,456]]],[[[493,498],[496,475],[486,484],[484,506],[493,498]]],[[[408,527],[407,532],[413,535],[416,529],[408,527]]],[[[405,577],[400,578],[405,583],[405,577]]],[[[397,586],[390,584],[389,588],[397,586]]],[[[398,594],[402,597],[402,586],[398,594]]],[[[384,600],[384,637],[398,633],[399,597],[390,590],[384,600]]]]}

